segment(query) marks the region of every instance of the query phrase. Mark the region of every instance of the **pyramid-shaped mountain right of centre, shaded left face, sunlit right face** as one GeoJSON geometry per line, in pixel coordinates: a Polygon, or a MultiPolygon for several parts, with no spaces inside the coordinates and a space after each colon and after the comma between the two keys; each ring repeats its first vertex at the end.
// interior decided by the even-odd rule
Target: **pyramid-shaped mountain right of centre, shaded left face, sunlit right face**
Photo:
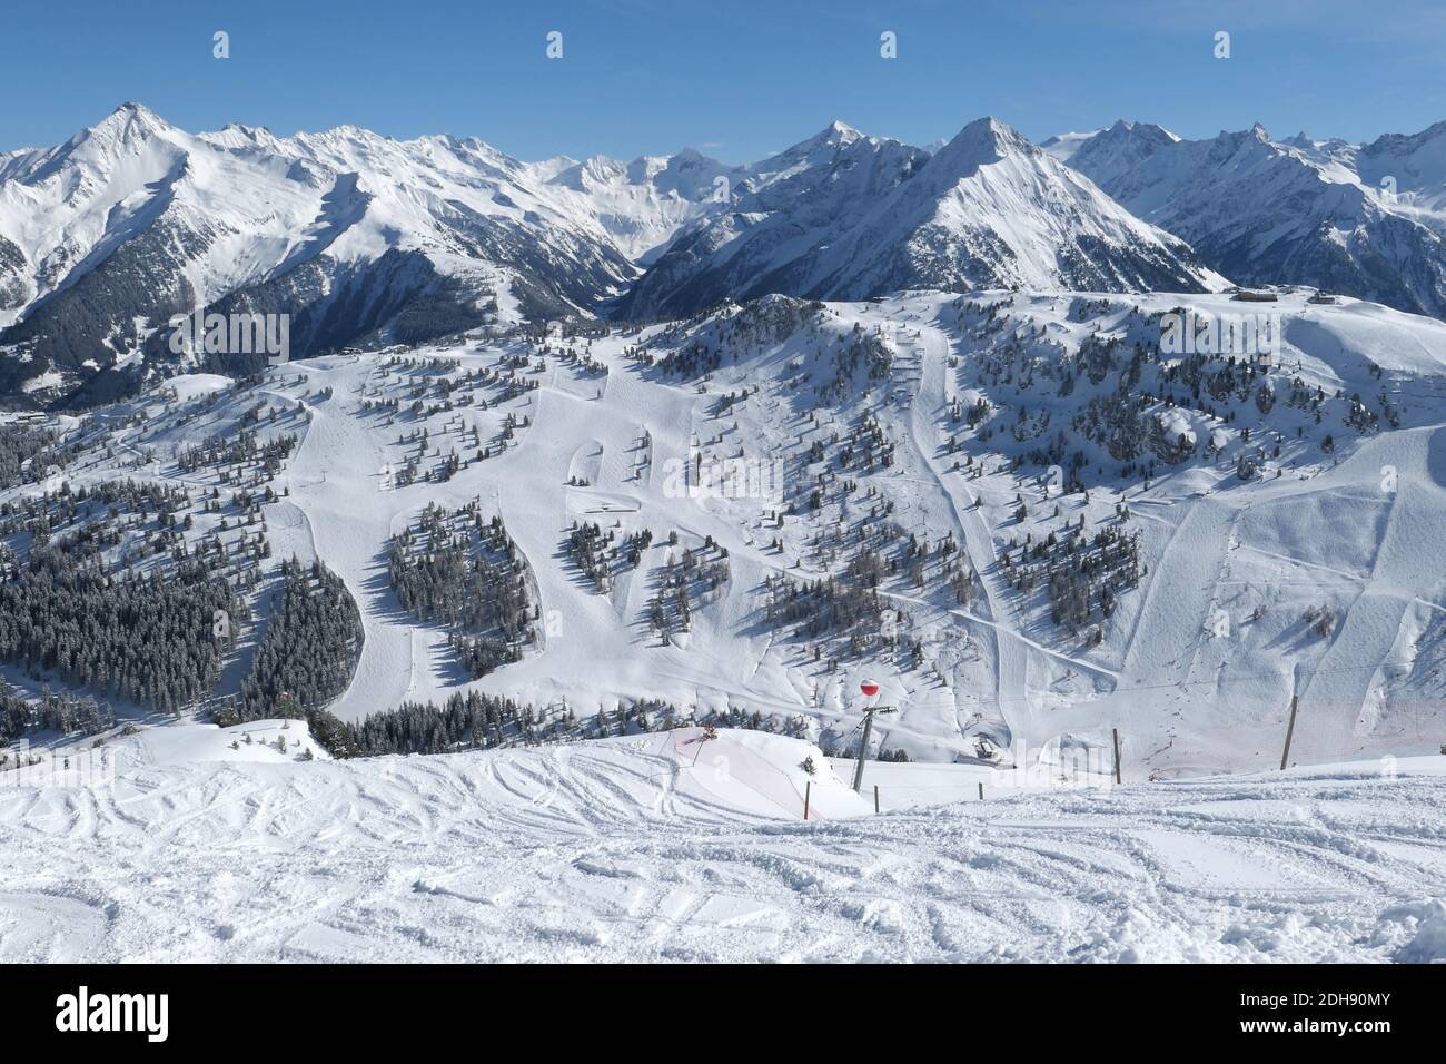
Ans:
{"type": "Polygon", "coordinates": [[[834,123],[759,165],[628,292],[638,317],[784,292],[1205,291],[1225,281],[1014,129],[980,119],[933,155],[834,123]]]}

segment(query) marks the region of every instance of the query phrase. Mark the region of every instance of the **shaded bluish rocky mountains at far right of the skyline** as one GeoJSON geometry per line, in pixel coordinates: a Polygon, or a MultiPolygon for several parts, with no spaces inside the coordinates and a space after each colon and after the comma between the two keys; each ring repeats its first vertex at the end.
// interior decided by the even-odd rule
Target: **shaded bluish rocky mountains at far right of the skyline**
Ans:
{"type": "Polygon", "coordinates": [[[1121,122],[1074,146],[1070,165],[1241,284],[1306,284],[1440,317],[1442,133],[1356,151],[1304,135],[1275,142],[1261,126],[1178,140],[1121,122]]]}

